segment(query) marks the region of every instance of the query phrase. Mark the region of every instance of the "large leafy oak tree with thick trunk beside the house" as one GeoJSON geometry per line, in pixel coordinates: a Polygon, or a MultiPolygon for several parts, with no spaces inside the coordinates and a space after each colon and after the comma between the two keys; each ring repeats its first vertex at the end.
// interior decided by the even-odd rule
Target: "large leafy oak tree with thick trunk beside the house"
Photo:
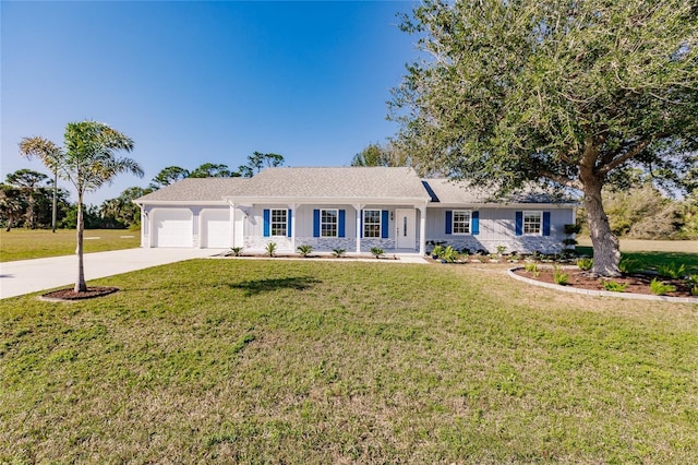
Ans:
{"type": "Polygon", "coordinates": [[[390,117],[422,170],[580,191],[593,271],[617,275],[603,186],[633,167],[676,186],[696,168],[698,3],[424,0],[401,28],[420,60],[390,117]]]}

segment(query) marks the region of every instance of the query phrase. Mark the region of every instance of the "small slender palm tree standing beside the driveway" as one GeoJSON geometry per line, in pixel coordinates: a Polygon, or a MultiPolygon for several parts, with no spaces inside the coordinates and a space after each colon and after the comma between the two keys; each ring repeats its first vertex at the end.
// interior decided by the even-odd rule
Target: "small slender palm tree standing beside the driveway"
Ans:
{"type": "Polygon", "coordinates": [[[77,279],[75,293],[87,290],[83,262],[83,200],[110,182],[120,172],[143,177],[143,169],[132,158],[117,157],[117,152],[133,150],[128,135],[97,121],[69,122],[65,127],[64,147],[56,158],[59,176],[69,180],[77,193],[77,279]]]}

